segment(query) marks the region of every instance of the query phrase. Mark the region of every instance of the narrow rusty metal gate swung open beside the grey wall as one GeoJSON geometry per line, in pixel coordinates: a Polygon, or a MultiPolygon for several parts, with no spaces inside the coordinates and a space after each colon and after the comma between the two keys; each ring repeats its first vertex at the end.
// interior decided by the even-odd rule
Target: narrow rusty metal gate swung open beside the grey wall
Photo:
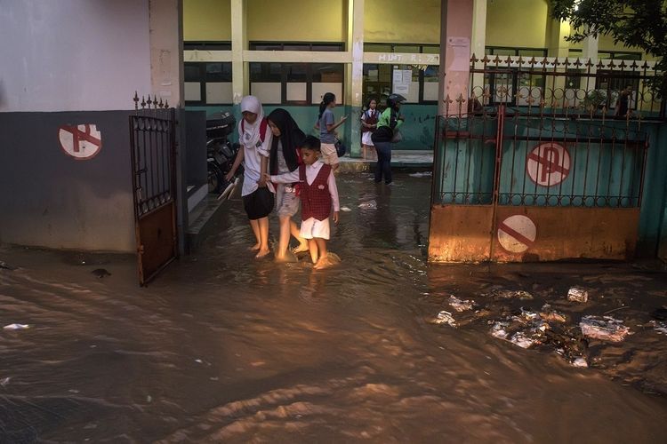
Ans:
{"type": "Polygon", "coordinates": [[[157,98],[134,96],[130,115],[134,222],[139,283],[149,281],[178,257],[176,233],[175,114],[157,98]],[[140,108],[141,105],[141,108],[140,108]]]}

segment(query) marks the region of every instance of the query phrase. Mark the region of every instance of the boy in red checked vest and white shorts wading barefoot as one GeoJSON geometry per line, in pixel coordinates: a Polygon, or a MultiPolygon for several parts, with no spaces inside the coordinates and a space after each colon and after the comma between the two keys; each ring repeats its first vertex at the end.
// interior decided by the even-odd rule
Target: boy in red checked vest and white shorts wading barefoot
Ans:
{"type": "Polygon", "coordinates": [[[321,155],[319,139],[308,136],[301,144],[303,163],[299,168],[270,176],[270,181],[274,183],[298,182],[298,193],[301,197],[301,237],[308,240],[310,258],[316,270],[330,263],[326,250],[330,233],[329,218],[332,218],[333,207],[333,222],[337,224],[340,211],[333,170],[331,165],[320,160],[321,155]]]}

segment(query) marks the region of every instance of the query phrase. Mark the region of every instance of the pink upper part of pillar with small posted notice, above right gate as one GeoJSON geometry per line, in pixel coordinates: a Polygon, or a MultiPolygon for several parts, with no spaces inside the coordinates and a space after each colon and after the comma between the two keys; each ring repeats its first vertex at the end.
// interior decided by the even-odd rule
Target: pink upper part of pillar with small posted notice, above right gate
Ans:
{"type": "Polygon", "coordinates": [[[470,0],[441,0],[440,11],[438,114],[456,115],[460,111],[465,114],[470,82],[473,3],[470,0]],[[451,100],[448,103],[447,98],[451,100]]]}

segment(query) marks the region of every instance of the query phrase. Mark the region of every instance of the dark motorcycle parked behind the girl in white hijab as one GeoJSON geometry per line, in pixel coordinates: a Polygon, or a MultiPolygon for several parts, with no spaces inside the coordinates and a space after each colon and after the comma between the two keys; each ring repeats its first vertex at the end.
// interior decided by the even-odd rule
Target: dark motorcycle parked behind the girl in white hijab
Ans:
{"type": "Polygon", "coordinates": [[[225,176],[237,158],[239,145],[232,144],[228,137],[234,132],[237,120],[230,113],[215,113],[206,117],[206,165],[208,169],[208,192],[219,194],[218,199],[231,196],[243,174],[240,166],[231,180],[225,176]]]}

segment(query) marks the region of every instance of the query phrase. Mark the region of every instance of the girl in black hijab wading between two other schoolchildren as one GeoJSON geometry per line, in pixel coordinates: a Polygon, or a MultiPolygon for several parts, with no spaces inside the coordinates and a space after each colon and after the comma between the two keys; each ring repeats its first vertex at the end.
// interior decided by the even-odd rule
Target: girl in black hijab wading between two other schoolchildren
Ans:
{"type": "MultiPolygon", "coordinates": [[[[292,115],[283,108],[274,109],[269,114],[268,120],[273,133],[269,153],[269,174],[277,175],[296,170],[301,163],[299,148],[303,140],[306,139],[306,135],[294,122],[292,115]]],[[[267,161],[263,159],[262,162],[267,161]]],[[[262,178],[262,180],[265,179],[262,178]]],[[[299,246],[292,250],[293,253],[308,251],[308,242],[301,238],[299,227],[292,220],[293,216],[299,212],[301,203],[293,185],[277,184],[276,186],[276,212],[280,220],[280,236],[275,255],[279,261],[286,260],[290,234],[299,241],[299,246]]]]}

